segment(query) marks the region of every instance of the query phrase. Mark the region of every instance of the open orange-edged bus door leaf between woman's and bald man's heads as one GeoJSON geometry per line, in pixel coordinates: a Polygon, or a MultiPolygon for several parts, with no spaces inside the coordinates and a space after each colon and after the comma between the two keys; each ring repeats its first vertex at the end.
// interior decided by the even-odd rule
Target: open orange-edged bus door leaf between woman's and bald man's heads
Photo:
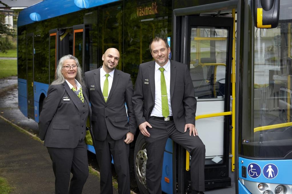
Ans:
{"type": "Polygon", "coordinates": [[[84,72],[84,42],[85,26],[84,24],[73,26],[73,56],[79,60],[80,67],[84,72]]]}

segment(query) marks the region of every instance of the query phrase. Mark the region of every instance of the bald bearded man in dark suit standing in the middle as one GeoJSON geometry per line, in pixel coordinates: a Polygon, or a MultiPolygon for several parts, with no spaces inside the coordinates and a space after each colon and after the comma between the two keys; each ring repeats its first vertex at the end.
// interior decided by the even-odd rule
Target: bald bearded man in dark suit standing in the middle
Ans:
{"type": "Polygon", "coordinates": [[[131,76],[115,69],[119,59],[117,49],[107,49],[102,55],[102,67],[84,74],[86,94],[92,109],[96,158],[100,167],[100,191],[105,194],[113,193],[112,157],[118,175],[119,194],[130,193],[129,143],[133,141],[137,128],[131,101],[131,76]]]}

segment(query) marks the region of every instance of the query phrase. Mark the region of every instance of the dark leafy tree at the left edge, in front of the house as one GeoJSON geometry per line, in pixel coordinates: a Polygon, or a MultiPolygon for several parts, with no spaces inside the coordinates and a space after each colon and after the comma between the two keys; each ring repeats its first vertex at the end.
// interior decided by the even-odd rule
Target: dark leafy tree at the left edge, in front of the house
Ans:
{"type": "MultiPolygon", "coordinates": [[[[0,4],[8,7],[8,5],[3,3],[2,1],[0,1],[0,4]]],[[[8,37],[15,36],[15,31],[9,28],[8,24],[4,24],[4,22],[5,15],[4,13],[0,13],[0,52],[2,53],[6,53],[6,50],[11,48],[11,43],[9,42],[8,37]]]]}

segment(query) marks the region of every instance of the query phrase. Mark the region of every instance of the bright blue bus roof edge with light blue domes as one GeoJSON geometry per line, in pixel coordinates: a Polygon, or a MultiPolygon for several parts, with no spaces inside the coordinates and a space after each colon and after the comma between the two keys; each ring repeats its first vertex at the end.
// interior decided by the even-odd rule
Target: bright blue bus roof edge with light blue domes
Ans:
{"type": "Polygon", "coordinates": [[[31,24],[36,21],[46,20],[86,8],[93,8],[114,1],[119,0],[44,0],[22,10],[18,15],[17,26],[31,24]]]}

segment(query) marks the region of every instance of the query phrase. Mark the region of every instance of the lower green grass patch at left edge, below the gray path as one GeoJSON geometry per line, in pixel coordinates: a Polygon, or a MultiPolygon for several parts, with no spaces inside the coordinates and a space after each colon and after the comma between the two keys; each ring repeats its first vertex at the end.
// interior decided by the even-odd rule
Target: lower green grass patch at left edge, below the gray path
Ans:
{"type": "Polygon", "coordinates": [[[0,60],[0,79],[17,75],[17,60],[0,60]]]}

